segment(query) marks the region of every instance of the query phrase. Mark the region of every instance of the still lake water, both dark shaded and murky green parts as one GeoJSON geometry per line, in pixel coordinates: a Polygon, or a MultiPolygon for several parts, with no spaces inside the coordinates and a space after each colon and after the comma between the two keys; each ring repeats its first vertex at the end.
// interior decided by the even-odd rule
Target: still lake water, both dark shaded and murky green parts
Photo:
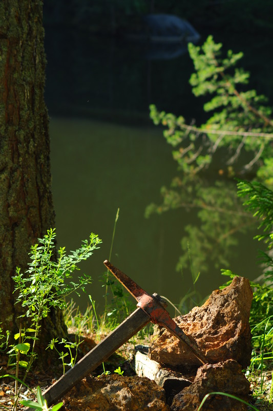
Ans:
{"type": "MultiPolygon", "coordinates": [[[[217,172],[203,175],[198,184],[234,201],[234,209],[229,205],[228,213],[219,214],[220,221],[214,222],[214,208],[208,208],[206,217],[213,222],[212,228],[200,220],[200,208],[181,207],[144,217],[146,206],[160,204],[160,188],[169,187],[179,175],[162,130],[149,120],[149,104],[203,120],[202,101],[195,99],[188,85],[193,66],[187,53],[170,60],[148,60],[145,50],[135,44],[65,31],[46,33],[57,239],[68,250],[77,248],[91,231],[102,239],[101,248],[81,265],[93,278],[87,292],[98,310],[103,307],[99,280],[105,271],[103,260],[109,258],[118,207],[111,262],[148,292],[158,292],[178,304],[193,289],[192,275],[196,277],[199,271],[200,301],[226,280],[220,268],[257,278],[261,270],[256,264],[259,245],[253,240],[256,227],[249,222],[240,229],[238,204],[233,200],[236,184],[219,180],[217,172]],[[197,234],[198,244],[193,238],[188,242],[192,269],[187,262],[177,271],[180,256],[183,261],[188,257],[181,240],[187,238],[189,224],[201,237],[197,234]]],[[[232,42],[235,51],[246,43],[241,37],[232,42]]],[[[254,65],[250,57],[247,52],[248,67],[254,65]]],[[[265,92],[262,74],[267,70],[261,66],[261,76],[257,71],[254,76],[259,92],[265,92]]],[[[269,96],[271,91],[268,88],[269,96]]],[[[85,310],[88,297],[75,300],[85,310]]]]}

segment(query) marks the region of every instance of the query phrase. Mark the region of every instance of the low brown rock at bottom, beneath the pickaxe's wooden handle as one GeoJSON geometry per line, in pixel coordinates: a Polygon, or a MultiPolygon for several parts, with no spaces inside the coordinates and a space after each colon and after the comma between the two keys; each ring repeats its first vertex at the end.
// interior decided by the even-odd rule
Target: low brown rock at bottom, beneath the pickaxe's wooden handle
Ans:
{"type": "Polygon", "coordinates": [[[86,377],[64,398],[66,411],[171,411],[163,388],[149,378],[86,377]]]}

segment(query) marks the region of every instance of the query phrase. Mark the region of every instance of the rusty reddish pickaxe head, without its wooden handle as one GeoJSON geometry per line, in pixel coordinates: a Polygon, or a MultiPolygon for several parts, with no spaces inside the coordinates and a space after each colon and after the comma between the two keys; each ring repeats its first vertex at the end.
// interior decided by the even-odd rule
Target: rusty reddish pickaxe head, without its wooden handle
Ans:
{"type": "Polygon", "coordinates": [[[205,355],[200,351],[197,344],[190,339],[184,331],[178,327],[175,321],[170,317],[169,312],[164,308],[164,300],[154,293],[152,296],[135,283],[130,277],[118,268],[114,267],[108,260],[105,260],[104,265],[112,272],[117,280],[130,292],[130,294],[138,301],[137,307],[142,308],[151,318],[154,324],[165,327],[180,341],[183,341],[192,353],[203,363],[207,364],[209,361],[205,355]]]}

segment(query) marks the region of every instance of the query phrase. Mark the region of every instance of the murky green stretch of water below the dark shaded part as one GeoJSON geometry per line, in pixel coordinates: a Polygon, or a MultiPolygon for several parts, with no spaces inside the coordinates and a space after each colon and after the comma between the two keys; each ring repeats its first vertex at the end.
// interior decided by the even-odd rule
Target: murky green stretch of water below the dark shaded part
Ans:
{"type": "MultiPolygon", "coordinates": [[[[75,249],[90,231],[102,239],[101,248],[82,264],[94,281],[87,293],[100,309],[102,262],[109,257],[118,207],[112,263],[150,293],[178,303],[191,287],[187,250],[180,260],[183,278],[176,271],[181,238],[183,247],[190,243],[194,272],[201,270],[197,289],[202,298],[223,283],[220,267],[257,277],[257,244],[252,240],[256,229],[247,228],[235,184],[175,179],[176,186],[162,192],[163,206],[172,211],[144,218],[148,204],[160,203],[160,187],[167,187],[177,174],[161,130],[56,118],[51,119],[50,134],[58,243],[75,249]],[[224,206],[230,211],[221,212],[224,206]],[[245,225],[244,230],[237,230],[239,225],[245,225]]],[[[88,296],[77,303],[85,309],[88,296]]]]}

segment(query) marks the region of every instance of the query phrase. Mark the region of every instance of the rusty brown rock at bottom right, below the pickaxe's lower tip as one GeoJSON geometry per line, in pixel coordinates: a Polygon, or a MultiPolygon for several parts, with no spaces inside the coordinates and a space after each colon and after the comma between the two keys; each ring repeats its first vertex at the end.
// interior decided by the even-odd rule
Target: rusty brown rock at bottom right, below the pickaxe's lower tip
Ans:
{"type": "MultiPolygon", "coordinates": [[[[182,389],[174,397],[172,411],[197,411],[202,399],[212,392],[232,394],[248,401],[250,383],[242,374],[242,367],[234,360],[218,364],[206,364],[198,368],[192,385],[182,389]]],[[[202,411],[246,411],[247,405],[223,395],[209,396],[202,411]]]]}

